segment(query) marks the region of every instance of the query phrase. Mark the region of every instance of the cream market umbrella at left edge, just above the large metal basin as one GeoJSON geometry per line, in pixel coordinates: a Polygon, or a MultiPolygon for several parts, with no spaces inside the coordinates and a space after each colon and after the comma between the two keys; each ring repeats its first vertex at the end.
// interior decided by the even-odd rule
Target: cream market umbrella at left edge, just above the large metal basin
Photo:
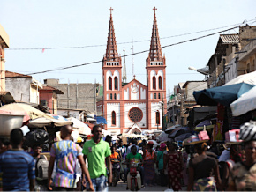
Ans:
{"type": "Polygon", "coordinates": [[[41,112],[40,110],[27,105],[25,103],[11,103],[11,104],[7,104],[4,105],[3,107],[0,107],[0,110],[7,110],[7,111],[13,111],[13,112],[23,112],[25,113],[25,117],[23,119],[23,122],[26,122],[29,119],[36,119],[39,117],[45,117],[47,119],[53,119],[52,116],[50,116],[49,114],[45,114],[43,112],[41,112]]]}

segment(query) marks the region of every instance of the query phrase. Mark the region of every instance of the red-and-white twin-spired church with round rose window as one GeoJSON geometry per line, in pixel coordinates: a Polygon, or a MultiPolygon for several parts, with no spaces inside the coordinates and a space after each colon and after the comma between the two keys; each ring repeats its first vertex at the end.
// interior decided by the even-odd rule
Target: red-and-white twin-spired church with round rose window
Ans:
{"type": "Polygon", "coordinates": [[[111,134],[135,133],[143,130],[162,129],[162,111],[166,113],[165,56],[157,28],[154,8],[154,22],[149,54],[146,58],[147,85],[134,76],[125,83],[125,63],[117,51],[117,41],[110,8],[109,34],[106,54],[102,60],[103,117],[111,134]],[[122,74],[123,72],[123,74],[122,74]]]}

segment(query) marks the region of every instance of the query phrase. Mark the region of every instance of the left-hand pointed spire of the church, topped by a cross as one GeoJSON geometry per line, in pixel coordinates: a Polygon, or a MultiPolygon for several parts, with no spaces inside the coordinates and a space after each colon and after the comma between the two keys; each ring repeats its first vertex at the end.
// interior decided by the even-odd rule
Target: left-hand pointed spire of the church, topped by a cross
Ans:
{"type": "Polygon", "coordinates": [[[108,34],[108,43],[106,49],[106,60],[107,62],[117,61],[117,41],[115,36],[114,24],[112,19],[112,7],[110,7],[110,19],[109,19],[109,34],[108,34]]]}

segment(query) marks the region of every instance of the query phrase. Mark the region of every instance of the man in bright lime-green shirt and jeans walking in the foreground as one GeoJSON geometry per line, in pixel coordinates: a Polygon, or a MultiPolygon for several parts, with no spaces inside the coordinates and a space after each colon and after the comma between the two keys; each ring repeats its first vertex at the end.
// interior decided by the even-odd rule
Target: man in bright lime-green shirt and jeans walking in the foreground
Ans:
{"type": "Polygon", "coordinates": [[[109,184],[112,183],[112,166],[110,162],[110,146],[102,139],[102,128],[94,125],[93,138],[84,144],[83,153],[88,161],[88,170],[96,191],[107,191],[107,168],[109,170],[109,184]]]}

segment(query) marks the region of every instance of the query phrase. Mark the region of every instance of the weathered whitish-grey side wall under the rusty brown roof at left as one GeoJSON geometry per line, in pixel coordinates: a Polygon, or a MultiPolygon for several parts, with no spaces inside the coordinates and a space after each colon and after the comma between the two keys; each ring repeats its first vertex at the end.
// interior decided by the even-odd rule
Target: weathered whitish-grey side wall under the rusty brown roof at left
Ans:
{"type": "Polygon", "coordinates": [[[14,100],[29,103],[31,80],[32,78],[6,78],[5,90],[11,92],[14,100]]]}

